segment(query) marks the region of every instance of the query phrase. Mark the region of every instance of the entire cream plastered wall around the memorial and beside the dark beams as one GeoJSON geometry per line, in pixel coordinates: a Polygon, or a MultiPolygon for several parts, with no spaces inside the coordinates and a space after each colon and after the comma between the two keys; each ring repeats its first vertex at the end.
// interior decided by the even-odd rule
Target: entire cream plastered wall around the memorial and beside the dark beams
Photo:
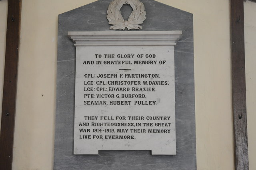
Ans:
{"type": "MultiPolygon", "coordinates": [[[[194,14],[198,170],[233,170],[229,0],[158,0],[194,14]]],[[[52,170],[58,14],[94,0],[23,0],[13,170],[52,170]]],[[[256,3],[245,3],[250,170],[256,170],[256,3]]],[[[7,0],[0,1],[0,95],[7,0]]],[[[0,99],[2,104],[2,98],[0,99]]],[[[0,104],[0,106],[1,106],[0,104]]]]}

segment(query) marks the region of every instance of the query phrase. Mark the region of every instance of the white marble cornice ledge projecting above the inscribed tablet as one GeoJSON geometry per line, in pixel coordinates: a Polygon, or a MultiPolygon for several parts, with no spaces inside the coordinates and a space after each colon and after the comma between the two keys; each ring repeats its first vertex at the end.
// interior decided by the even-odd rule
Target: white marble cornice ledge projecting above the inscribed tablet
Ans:
{"type": "Polygon", "coordinates": [[[174,46],[182,31],[68,32],[75,46],[174,46]]]}

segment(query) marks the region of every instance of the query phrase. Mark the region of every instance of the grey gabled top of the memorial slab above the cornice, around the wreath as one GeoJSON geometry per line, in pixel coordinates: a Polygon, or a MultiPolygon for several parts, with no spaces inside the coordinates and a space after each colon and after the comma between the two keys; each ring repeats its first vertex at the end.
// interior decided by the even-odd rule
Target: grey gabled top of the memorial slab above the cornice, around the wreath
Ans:
{"type": "MultiPolygon", "coordinates": [[[[110,2],[112,0],[98,0],[60,14],[59,26],[64,25],[68,31],[123,31],[110,30],[112,25],[108,24],[106,17],[110,2]]],[[[140,0],[140,2],[144,4],[146,11],[146,20],[140,24],[143,31],[180,30],[180,25],[192,22],[193,16],[189,12],[154,0],[140,0]]],[[[124,9],[126,10],[121,9],[122,15],[129,16],[132,9],[129,10],[127,7],[124,9]]],[[[140,29],[130,31],[140,31],[140,29]]]]}

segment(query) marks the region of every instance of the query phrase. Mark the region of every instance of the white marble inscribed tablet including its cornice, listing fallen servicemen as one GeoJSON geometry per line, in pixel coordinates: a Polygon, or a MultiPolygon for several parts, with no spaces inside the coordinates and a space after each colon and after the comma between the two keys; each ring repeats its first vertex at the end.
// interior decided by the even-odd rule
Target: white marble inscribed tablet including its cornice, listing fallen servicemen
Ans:
{"type": "Polygon", "coordinates": [[[69,32],[76,46],[74,154],[176,154],[174,45],[181,34],[69,32]]]}

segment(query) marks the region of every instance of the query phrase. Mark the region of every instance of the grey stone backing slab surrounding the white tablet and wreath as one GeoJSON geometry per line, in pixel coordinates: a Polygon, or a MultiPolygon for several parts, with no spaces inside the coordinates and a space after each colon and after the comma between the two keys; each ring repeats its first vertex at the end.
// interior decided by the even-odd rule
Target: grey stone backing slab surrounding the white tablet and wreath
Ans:
{"type": "MultiPolygon", "coordinates": [[[[58,16],[54,170],[196,170],[193,15],[154,0],[140,1],[147,12],[147,19],[141,24],[143,31],[182,30],[182,38],[175,46],[177,154],[152,156],[151,151],[73,154],[76,48],[68,38],[68,31],[123,31],[109,30],[106,11],[111,0],[98,0],[58,16]]],[[[121,8],[123,16],[129,16],[131,11],[129,6],[121,8]]]]}

